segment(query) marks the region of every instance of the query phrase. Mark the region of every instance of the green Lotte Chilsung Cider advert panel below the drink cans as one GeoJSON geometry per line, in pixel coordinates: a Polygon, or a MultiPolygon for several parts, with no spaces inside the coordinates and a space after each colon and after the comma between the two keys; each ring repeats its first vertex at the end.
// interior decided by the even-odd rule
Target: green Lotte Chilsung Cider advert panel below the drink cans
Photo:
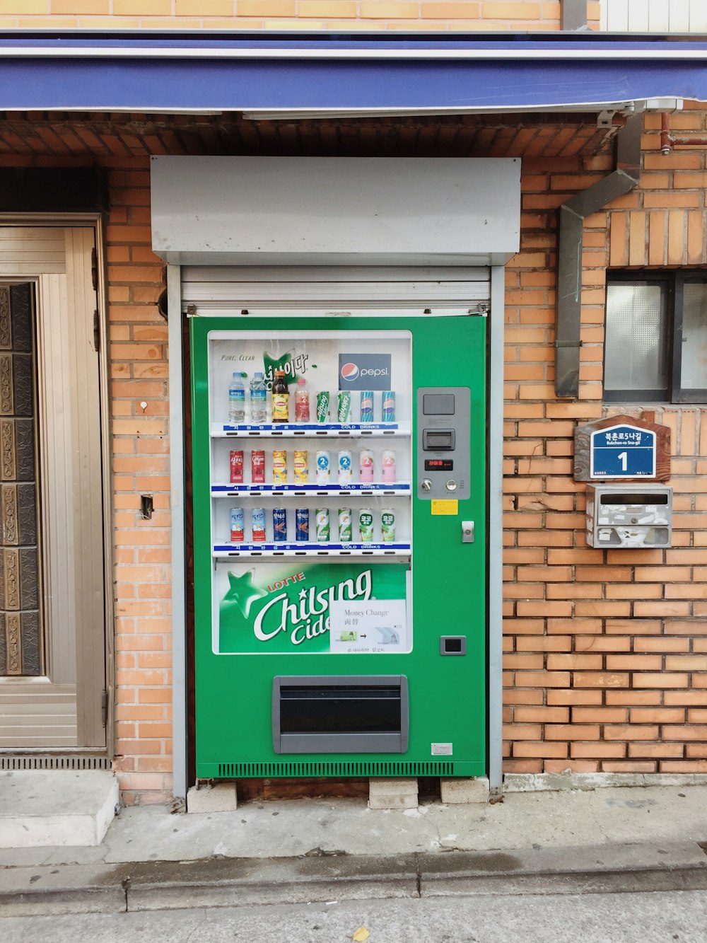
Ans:
{"type": "Polygon", "coordinates": [[[220,563],[214,572],[213,651],[409,652],[409,573],[403,562],[220,563]],[[347,609],[356,615],[347,616],[347,609]],[[359,620],[355,626],[353,619],[359,620]]]}

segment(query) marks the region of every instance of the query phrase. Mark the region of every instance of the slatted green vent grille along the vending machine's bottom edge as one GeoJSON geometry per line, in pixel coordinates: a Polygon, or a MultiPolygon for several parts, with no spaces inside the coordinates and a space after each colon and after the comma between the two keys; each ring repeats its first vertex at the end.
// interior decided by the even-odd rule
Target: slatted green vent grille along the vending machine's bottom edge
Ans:
{"type": "Polygon", "coordinates": [[[453,776],[454,764],[395,762],[220,763],[222,779],[287,776],[453,776]]]}

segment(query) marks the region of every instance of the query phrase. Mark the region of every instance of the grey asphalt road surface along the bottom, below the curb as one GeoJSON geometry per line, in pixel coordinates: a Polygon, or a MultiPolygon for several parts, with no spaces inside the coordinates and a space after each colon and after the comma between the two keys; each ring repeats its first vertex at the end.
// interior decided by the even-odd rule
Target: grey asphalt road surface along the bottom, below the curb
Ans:
{"type": "Polygon", "coordinates": [[[474,896],[0,918],[7,943],[705,943],[707,891],[474,896]],[[359,934],[358,937],[361,937],[359,934]]]}

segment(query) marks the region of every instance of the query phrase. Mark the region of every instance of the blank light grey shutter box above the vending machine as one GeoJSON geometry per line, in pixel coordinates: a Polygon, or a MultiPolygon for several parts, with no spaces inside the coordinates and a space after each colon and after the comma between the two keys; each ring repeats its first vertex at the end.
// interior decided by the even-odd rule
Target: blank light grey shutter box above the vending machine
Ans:
{"type": "Polygon", "coordinates": [[[182,265],[503,265],[520,160],[153,157],[153,248],[182,265]]]}

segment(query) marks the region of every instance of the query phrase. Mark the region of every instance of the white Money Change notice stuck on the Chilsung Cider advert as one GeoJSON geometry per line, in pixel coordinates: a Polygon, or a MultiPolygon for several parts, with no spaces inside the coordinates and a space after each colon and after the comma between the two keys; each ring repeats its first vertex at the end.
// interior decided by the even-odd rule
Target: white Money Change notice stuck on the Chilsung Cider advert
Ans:
{"type": "Polygon", "coordinates": [[[331,605],[329,642],[332,652],[408,652],[405,600],[337,600],[331,605]]]}

